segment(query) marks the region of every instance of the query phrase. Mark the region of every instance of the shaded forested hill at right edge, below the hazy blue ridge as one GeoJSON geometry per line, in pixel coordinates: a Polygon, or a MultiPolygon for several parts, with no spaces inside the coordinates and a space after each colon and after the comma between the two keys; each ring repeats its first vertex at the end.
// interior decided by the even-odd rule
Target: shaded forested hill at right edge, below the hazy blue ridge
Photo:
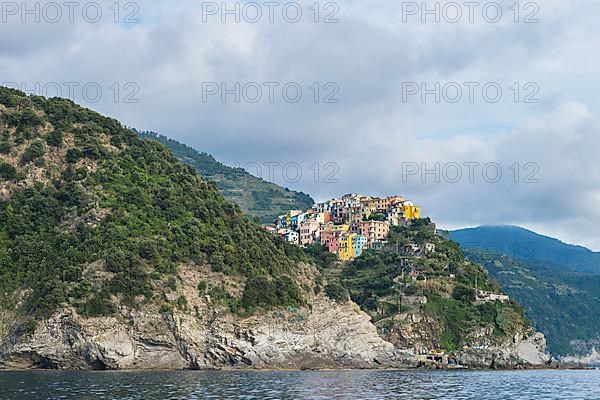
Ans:
{"type": "Polygon", "coordinates": [[[496,252],[463,251],[525,307],[553,354],[585,355],[600,345],[600,275],[560,272],[560,266],[496,252]]]}

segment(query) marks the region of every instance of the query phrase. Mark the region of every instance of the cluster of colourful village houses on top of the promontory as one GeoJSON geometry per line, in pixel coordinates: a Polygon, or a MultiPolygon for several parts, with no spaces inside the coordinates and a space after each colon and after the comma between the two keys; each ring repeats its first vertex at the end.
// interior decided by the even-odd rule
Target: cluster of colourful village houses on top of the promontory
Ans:
{"type": "Polygon", "coordinates": [[[289,211],[265,229],[299,246],[320,243],[339,260],[348,261],[365,249],[381,249],[391,226],[419,218],[421,208],[401,196],[347,194],[317,203],[307,211],[289,211]]]}

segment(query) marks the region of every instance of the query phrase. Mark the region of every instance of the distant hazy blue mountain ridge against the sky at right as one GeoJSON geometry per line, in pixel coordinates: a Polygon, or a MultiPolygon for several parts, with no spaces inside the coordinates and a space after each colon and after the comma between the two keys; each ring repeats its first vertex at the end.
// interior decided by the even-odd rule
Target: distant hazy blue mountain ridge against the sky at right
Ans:
{"type": "Polygon", "coordinates": [[[542,261],[574,272],[599,273],[600,253],[564,243],[511,225],[480,226],[452,231],[450,238],[463,248],[496,250],[520,261],[542,261]]]}

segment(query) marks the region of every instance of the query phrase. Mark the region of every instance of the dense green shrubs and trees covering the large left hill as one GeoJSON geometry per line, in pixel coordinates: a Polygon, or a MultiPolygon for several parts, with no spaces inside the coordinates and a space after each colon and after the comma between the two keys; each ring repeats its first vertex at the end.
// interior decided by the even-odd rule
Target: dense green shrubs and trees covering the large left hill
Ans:
{"type": "Polygon", "coordinates": [[[190,262],[247,280],[240,307],[302,303],[300,250],[117,121],[0,88],[0,150],[0,306],[110,314],[161,301],[190,262]]]}

